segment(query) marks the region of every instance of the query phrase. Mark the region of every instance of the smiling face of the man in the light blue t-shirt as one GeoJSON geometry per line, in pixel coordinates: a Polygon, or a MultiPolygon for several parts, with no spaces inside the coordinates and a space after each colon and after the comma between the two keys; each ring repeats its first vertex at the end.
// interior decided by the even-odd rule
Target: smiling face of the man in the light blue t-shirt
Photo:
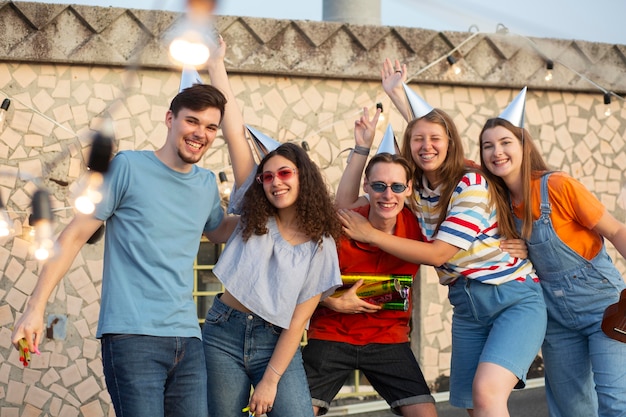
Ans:
{"type": "Polygon", "coordinates": [[[189,169],[188,165],[199,162],[215,141],[220,116],[220,111],[214,107],[201,111],[182,108],[177,116],[168,111],[165,124],[171,162],[189,169]]]}

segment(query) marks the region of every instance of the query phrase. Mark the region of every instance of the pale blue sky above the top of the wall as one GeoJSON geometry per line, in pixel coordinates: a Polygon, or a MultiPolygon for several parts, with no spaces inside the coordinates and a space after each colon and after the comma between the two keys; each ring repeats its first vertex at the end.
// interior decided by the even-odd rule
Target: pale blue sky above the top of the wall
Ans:
{"type": "MultiPolygon", "coordinates": [[[[128,0],[30,0],[128,7],[128,0]]],[[[216,14],[322,20],[323,0],[217,0],[216,14]]],[[[359,0],[353,0],[358,2],[359,0]]],[[[133,8],[184,11],[185,0],[133,0],[133,8]]],[[[381,0],[381,23],[439,31],[510,32],[626,45],[625,0],[381,0]],[[475,28],[472,28],[475,30],[475,28]]]]}

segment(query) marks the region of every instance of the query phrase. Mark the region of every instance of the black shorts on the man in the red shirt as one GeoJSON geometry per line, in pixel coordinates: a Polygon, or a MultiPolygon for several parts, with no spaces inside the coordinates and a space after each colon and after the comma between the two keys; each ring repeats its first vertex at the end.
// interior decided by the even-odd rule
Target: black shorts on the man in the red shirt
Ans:
{"type": "Polygon", "coordinates": [[[355,369],[363,372],[397,415],[401,406],[435,402],[409,343],[357,346],[309,339],[302,357],[319,415],[326,414],[355,369]]]}

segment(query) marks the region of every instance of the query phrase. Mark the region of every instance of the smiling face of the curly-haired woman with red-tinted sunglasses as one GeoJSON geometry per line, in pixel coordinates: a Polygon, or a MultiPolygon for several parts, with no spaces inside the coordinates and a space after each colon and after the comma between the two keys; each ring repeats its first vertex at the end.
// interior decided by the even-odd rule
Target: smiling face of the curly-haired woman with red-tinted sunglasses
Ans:
{"type": "MultiPolygon", "coordinates": [[[[281,155],[274,155],[263,165],[263,173],[266,181],[263,181],[263,191],[269,202],[278,210],[295,207],[298,193],[300,192],[300,180],[296,165],[281,155]],[[278,171],[291,170],[292,175],[277,175],[278,171]]],[[[285,171],[286,172],[286,171],[285,171]]]]}

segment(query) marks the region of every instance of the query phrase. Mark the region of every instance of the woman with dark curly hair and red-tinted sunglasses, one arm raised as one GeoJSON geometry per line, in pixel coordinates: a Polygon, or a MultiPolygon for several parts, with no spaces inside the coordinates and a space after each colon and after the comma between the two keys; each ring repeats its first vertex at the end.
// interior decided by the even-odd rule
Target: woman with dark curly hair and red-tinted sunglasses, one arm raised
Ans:
{"type": "Polygon", "coordinates": [[[320,170],[300,146],[280,145],[255,169],[225,48],[220,38],[208,68],[228,100],[222,131],[236,184],[230,209],[241,218],[213,269],[225,290],[203,327],[209,416],[248,415],[245,409],[313,416],[300,341],[319,301],[341,285],[341,226],[320,170]]]}

